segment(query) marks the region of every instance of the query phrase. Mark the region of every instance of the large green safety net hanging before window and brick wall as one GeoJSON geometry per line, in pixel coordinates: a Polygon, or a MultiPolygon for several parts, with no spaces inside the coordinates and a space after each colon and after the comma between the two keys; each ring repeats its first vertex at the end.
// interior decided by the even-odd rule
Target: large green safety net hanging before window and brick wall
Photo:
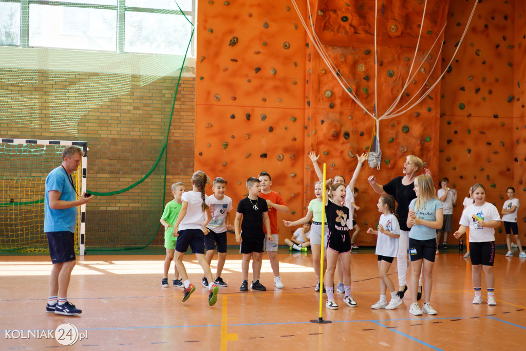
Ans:
{"type": "MultiPolygon", "coordinates": [[[[23,39],[6,44],[12,36],[0,29],[0,138],[87,142],[87,192],[96,197],[86,206],[86,252],[142,248],[158,232],[165,205],[166,147],[172,118],[179,118],[174,106],[194,25],[171,1],[159,3],[176,9],[139,8],[151,5],[143,0],[126,0],[124,10],[117,6],[122,1],[94,2],[103,5],[79,0],[65,8],[92,11],[80,21],[89,29],[76,24],[80,37],[88,34],[88,46],[104,34],[92,33],[102,21],[97,11],[116,17],[120,11],[120,21],[133,21],[116,20],[115,52],[31,47],[31,26],[45,22],[35,16],[50,11],[31,2],[21,20],[29,23],[28,47],[23,39]],[[173,46],[179,54],[151,53],[173,46]]],[[[0,251],[47,250],[44,183],[62,162],[62,148],[0,143],[0,251]]]]}

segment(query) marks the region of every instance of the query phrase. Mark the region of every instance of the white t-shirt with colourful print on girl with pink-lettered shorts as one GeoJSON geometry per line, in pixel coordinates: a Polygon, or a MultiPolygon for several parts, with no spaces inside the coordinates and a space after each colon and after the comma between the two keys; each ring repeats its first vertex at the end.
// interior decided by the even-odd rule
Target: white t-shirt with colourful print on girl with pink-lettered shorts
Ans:
{"type": "Polygon", "coordinates": [[[500,220],[497,207],[488,202],[484,202],[482,206],[475,206],[473,204],[466,207],[460,217],[460,225],[469,227],[470,243],[494,242],[495,228],[481,227],[477,224],[479,220],[483,220],[484,222],[500,220]]]}

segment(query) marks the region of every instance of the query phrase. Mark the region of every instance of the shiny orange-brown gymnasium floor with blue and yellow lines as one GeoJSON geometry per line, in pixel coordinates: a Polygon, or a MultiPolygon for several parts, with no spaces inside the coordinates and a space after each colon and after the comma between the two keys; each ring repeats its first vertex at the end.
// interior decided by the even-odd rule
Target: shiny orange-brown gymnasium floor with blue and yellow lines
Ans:
{"type": "MultiPolygon", "coordinates": [[[[499,249],[495,258],[497,306],[485,304],[484,283],[484,304],[471,303],[469,259],[453,249],[438,255],[431,298],[438,315],[412,316],[409,291],[395,310],[371,309],[379,299],[376,256],[362,249],[352,255],[352,295],[358,307],[342,305],[343,295],[337,294],[340,309],[323,307],[323,318],[332,321],[323,325],[309,323],[319,310],[310,251],[280,250],[285,288],[279,290],[264,260],[261,282],[268,290],[248,293],[239,292],[241,256],[229,254],[222,274],[229,286],[220,289],[213,307],[193,255],[185,256],[185,262],[197,289],[185,303],[182,289],[160,286],[163,255],[88,255],[78,259],[69,286],[69,300],[83,310],[77,317],[45,313],[51,267],[47,256],[0,256],[0,348],[524,349],[526,259],[514,255],[505,257],[499,249]],[[52,338],[14,338],[17,334],[5,331],[55,330],[63,323],[74,324],[87,338],[62,346],[52,338]]],[[[390,273],[397,285],[396,260],[390,273]]]]}

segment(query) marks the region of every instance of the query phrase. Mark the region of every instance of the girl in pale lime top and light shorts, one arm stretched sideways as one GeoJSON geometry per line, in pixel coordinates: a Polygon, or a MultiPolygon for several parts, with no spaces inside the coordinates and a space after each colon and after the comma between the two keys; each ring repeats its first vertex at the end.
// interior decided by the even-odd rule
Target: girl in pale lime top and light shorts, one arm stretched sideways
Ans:
{"type": "MultiPolygon", "coordinates": [[[[283,224],[286,227],[292,227],[300,224],[309,223],[312,218],[312,225],[310,226],[310,246],[312,250],[312,265],[314,267],[314,273],[318,279],[316,284],[315,291],[320,291],[320,259],[321,259],[321,215],[323,213],[323,203],[322,203],[322,190],[323,182],[316,182],[314,184],[314,194],[316,198],[311,200],[305,217],[298,219],[294,222],[290,220],[284,220],[283,224]]],[[[329,235],[329,227],[327,226],[327,218],[325,219],[325,240],[327,241],[327,235],[329,235]]],[[[324,245],[325,247],[325,245],[324,245]]],[[[323,274],[325,274],[325,269],[327,269],[327,255],[323,256],[323,274]]],[[[325,287],[323,287],[323,292],[325,292],[325,287]]]]}

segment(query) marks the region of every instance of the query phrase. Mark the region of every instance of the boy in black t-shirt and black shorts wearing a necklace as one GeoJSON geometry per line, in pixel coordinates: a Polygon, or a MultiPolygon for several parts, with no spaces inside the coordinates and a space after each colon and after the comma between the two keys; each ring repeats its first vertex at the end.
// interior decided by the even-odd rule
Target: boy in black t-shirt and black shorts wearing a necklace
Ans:
{"type": "Polygon", "coordinates": [[[267,233],[269,233],[267,240],[272,241],[274,238],[272,234],[270,234],[267,201],[258,196],[261,193],[259,179],[255,177],[248,178],[247,189],[248,196],[242,199],[237,205],[236,219],[234,221],[236,242],[241,243],[239,252],[243,254],[241,261],[243,283],[239,290],[242,292],[248,291],[248,265],[250,264],[250,258],[252,258],[252,275],[254,280],[252,280],[250,288],[265,291],[267,288],[259,283],[258,278],[261,272],[265,241],[265,233],[263,232],[261,223],[265,224],[267,233]]]}

